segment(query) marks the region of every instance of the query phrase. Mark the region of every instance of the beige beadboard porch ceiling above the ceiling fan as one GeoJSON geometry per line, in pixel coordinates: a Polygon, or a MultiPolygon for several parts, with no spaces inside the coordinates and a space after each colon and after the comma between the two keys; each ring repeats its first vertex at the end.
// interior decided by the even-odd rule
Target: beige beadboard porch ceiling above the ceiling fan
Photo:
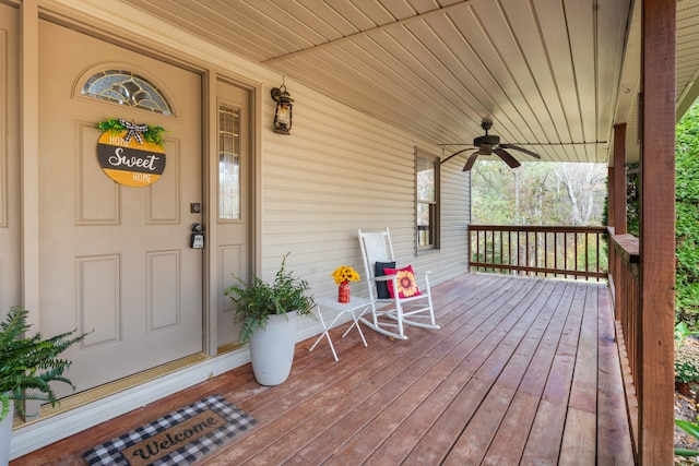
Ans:
{"type": "MultiPolygon", "coordinates": [[[[637,156],[640,1],[119,1],[279,71],[292,96],[301,83],[445,156],[483,119],[543,160],[599,163],[627,122],[637,156]]],[[[699,94],[699,0],[677,1],[677,40],[682,112],[699,94]]]]}

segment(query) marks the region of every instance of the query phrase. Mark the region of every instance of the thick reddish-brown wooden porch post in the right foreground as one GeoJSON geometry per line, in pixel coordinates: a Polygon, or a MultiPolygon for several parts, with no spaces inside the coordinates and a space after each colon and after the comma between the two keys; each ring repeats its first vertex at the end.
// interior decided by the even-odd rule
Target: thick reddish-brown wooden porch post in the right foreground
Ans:
{"type": "Polygon", "coordinates": [[[672,464],[675,315],[675,0],[643,0],[639,463],[672,464]]]}

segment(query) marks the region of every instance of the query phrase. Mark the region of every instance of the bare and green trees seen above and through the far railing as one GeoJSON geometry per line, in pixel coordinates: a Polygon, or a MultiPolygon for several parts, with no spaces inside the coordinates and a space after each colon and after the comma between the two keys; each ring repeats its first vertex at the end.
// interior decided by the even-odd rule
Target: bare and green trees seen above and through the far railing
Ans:
{"type": "MultiPolygon", "coordinates": [[[[472,222],[514,226],[603,225],[606,179],[603,164],[523,163],[512,169],[501,162],[479,160],[472,169],[472,222]]],[[[483,241],[483,248],[477,249],[498,251],[494,252],[496,262],[536,266],[543,261],[574,264],[578,270],[599,263],[602,270],[606,268],[606,242],[596,244],[596,239],[589,242],[584,235],[518,232],[505,238],[486,236],[478,240],[483,241]]]]}

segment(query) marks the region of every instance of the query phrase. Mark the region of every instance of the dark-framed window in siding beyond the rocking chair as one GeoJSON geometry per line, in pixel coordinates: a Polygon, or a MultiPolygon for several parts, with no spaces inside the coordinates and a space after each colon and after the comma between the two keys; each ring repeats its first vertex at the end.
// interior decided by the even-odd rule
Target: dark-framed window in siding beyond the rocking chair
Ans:
{"type": "Polygon", "coordinates": [[[415,243],[418,250],[439,248],[439,159],[415,150],[415,243]]]}

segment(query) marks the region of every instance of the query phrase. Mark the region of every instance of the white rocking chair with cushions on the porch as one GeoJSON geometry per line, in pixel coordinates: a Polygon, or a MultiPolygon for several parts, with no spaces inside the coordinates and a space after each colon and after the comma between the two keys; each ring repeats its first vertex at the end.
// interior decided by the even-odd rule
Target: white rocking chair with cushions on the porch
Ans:
{"type": "Polygon", "coordinates": [[[384,267],[400,268],[395,266],[389,229],[358,230],[358,232],[364,268],[368,277],[366,283],[371,299],[371,320],[367,315],[362,318],[362,322],[377,332],[400,339],[407,339],[404,325],[439,328],[435,322],[429,272],[424,275],[424,287],[418,287],[419,295],[401,297],[402,287],[399,286],[399,275],[383,275],[384,267]],[[381,289],[382,287],[386,288],[381,289]],[[392,287],[392,298],[388,287],[392,287]]]}

